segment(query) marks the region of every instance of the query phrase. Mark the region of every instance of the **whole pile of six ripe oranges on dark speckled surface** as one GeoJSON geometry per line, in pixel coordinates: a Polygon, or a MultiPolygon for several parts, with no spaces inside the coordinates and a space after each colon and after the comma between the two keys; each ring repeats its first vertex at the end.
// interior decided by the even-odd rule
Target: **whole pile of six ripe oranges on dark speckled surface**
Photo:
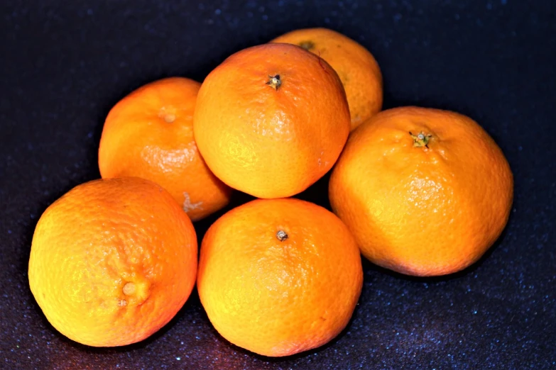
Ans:
{"type": "Polygon", "coordinates": [[[97,347],[144,340],[197,284],[212,325],[239,347],[286,356],[346,327],[361,254],[402,274],[476,262],[508,220],[513,177],[474,120],[381,111],[373,55],[332,30],[296,30],[236,52],[200,84],[147,84],[111,109],[102,179],[41,216],[29,283],[52,325],[97,347]],[[334,213],[289,198],[327,172],[334,213]],[[192,221],[232,192],[197,256],[192,221]]]}

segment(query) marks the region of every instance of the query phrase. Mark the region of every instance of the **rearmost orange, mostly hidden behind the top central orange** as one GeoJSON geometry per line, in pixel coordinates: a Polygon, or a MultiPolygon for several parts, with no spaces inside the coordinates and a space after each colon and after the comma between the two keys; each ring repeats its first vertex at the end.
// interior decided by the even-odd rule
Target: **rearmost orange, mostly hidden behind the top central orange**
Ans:
{"type": "Polygon", "coordinates": [[[346,89],[351,130],[381,110],[381,69],[369,50],[351,38],[326,28],[307,28],[271,42],[299,45],[329,62],[346,89]]]}

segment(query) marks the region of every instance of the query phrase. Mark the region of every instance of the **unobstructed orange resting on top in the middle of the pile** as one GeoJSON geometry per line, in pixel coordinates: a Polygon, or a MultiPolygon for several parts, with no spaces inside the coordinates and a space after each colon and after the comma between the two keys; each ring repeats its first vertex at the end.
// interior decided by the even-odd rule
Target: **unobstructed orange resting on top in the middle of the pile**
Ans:
{"type": "Polygon", "coordinates": [[[280,198],[332,168],[349,135],[349,108],[327,62],[295,45],[266,44],[236,52],[208,75],[194,127],[219,179],[280,198]],[[269,77],[276,75],[279,86],[269,77]]]}

